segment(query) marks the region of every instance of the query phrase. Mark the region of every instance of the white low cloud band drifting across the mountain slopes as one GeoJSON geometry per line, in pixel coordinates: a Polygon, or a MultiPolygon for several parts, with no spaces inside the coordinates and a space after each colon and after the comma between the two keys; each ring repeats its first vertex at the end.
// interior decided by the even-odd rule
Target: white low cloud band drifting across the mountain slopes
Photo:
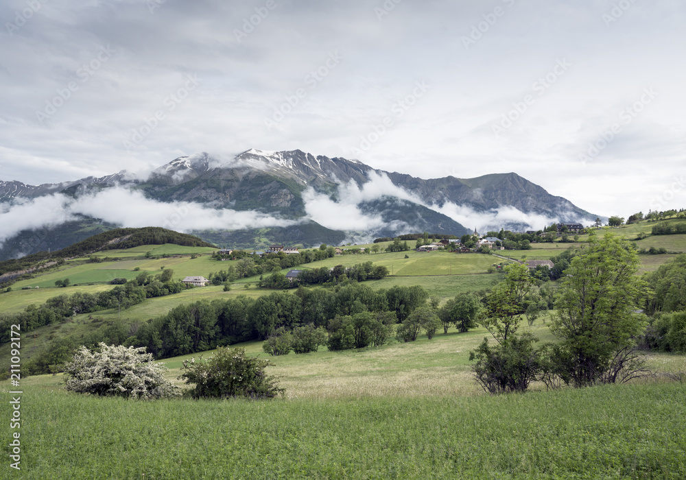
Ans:
{"type": "MultiPolygon", "coordinates": [[[[417,230],[405,221],[384,221],[380,213],[365,213],[359,207],[364,202],[382,198],[397,198],[431,208],[457,221],[468,229],[480,232],[500,228],[539,230],[554,221],[584,221],[569,213],[564,218],[537,213],[524,213],[512,206],[492,211],[474,211],[468,206],[446,202],[442,206],[426,204],[420,197],[397,187],[385,174],[368,173],[369,181],[362,186],[355,182],[340,184],[335,200],[313,188],[303,192],[307,219],[333,230],[348,232],[355,241],[370,241],[375,232],[396,234],[417,230]]],[[[399,202],[398,208],[403,208],[399,202]]],[[[240,230],[291,226],[304,219],[288,220],[258,211],[235,211],[229,208],[211,208],[207,204],[193,202],[158,202],[146,198],[139,191],[113,187],[78,199],[60,193],[35,199],[16,199],[0,204],[0,245],[21,230],[56,226],[78,218],[78,215],[99,218],[123,227],[161,226],[170,230],[240,230]]],[[[421,229],[421,228],[420,228],[421,229]]]]}

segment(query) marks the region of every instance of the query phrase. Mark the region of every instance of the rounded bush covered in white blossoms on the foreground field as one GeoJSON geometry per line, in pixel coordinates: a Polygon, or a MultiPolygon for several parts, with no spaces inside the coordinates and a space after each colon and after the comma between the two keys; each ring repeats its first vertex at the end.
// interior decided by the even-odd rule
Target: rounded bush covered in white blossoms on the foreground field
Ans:
{"type": "Polygon", "coordinates": [[[123,396],[150,400],[178,396],[179,389],[165,380],[168,371],[155,363],[145,347],[126,348],[99,344],[99,352],[82,346],[64,365],[67,390],[99,396],[123,396]]]}

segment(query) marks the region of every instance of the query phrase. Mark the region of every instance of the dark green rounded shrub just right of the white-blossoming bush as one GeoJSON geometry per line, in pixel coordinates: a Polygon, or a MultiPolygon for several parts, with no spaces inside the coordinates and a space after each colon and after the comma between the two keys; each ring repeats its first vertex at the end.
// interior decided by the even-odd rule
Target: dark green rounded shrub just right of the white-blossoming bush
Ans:
{"type": "Polygon", "coordinates": [[[269,364],[269,360],[248,357],[244,348],[220,347],[206,361],[202,357],[197,362],[195,358],[183,361],[185,372],[178,378],[196,384],[189,392],[193,398],[273,398],[285,390],[265,374],[269,364]]]}

